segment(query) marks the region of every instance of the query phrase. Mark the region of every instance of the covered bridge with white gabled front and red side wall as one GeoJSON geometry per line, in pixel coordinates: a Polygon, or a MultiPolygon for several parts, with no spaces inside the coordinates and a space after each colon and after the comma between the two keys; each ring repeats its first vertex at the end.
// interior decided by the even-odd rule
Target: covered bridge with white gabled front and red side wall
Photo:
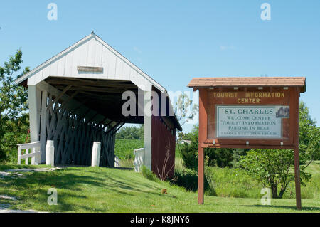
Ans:
{"type": "MultiPolygon", "coordinates": [[[[92,143],[101,142],[100,165],[113,167],[115,133],[124,123],[144,124],[144,165],[156,172],[170,149],[174,163],[176,129],[181,126],[172,111],[166,89],[129,62],[100,37],[91,33],[16,80],[28,87],[31,142],[55,145],[55,164],[91,162],[92,143]],[[143,94],[142,115],[124,116],[122,93],[143,94]],[[165,115],[145,115],[154,104],[151,91],[166,97],[165,115]],[[169,146],[168,146],[169,144],[169,146]],[[169,147],[169,148],[168,148],[169,147]]],[[[159,102],[160,103],[160,102],[159,102]]],[[[159,105],[159,112],[161,110],[159,105]]]]}

